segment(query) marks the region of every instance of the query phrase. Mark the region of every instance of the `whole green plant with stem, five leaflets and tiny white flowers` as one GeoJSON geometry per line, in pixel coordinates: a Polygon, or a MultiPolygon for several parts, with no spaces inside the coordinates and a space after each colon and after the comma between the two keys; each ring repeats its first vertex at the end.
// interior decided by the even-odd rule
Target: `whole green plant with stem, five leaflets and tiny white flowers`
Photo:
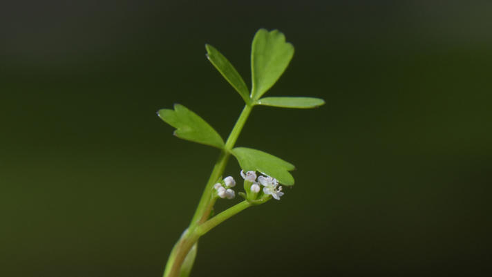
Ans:
{"type": "MultiPolygon", "coordinates": [[[[313,97],[261,98],[275,84],[278,78],[281,77],[294,55],[294,46],[285,42],[285,36],[278,30],[269,32],[265,29],[260,29],[254,36],[251,51],[251,93],[249,93],[243,78],[239,75],[236,68],[232,66],[224,55],[209,44],[206,44],[205,48],[207,50],[207,58],[211,64],[236,89],[240,97],[245,101],[246,106],[236,121],[226,143],[224,143],[222,137],[220,137],[214,128],[185,106],[175,104],[174,110],[164,108],[158,111],[158,115],[164,122],[176,128],[174,132],[176,136],[192,142],[215,146],[222,150],[187,231],[183,233],[171,251],[166,269],[164,270],[164,277],[189,276],[196,256],[196,242],[198,242],[200,236],[210,231],[210,229],[247,207],[263,204],[272,198],[276,200],[280,199],[283,195],[281,192],[282,187],[278,187],[278,183],[273,180],[261,180],[258,177],[258,180],[261,180],[258,182],[261,182],[263,186],[263,191],[261,191],[260,184],[256,183],[256,171],[276,178],[282,185],[292,186],[294,184],[294,178],[289,172],[294,170],[293,164],[256,149],[245,147],[233,148],[253,106],[315,108],[325,103],[323,99],[313,97]],[[234,198],[234,191],[231,191],[231,187],[234,186],[231,185],[231,187],[225,189],[223,187],[225,181],[221,177],[226,169],[229,155],[236,157],[240,167],[244,171],[254,171],[255,173],[249,173],[249,177],[245,177],[243,186],[245,193],[238,193],[245,198],[245,201],[214,215],[214,203],[218,198],[234,198]],[[218,187],[216,186],[217,183],[219,183],[218,187]],[[227,196],[225,196],[225,193],[228,193],[227,196]],[[193,247],[191,247],[192,245],[193,247]],[[185,259],[178,259],[176,257],[185,257],[185,259]]],[[[220,105],[218,103],[213,104],[220,105]]],[[[227,182],[232,184],[233,181],[228,180],[227,182]]]]}

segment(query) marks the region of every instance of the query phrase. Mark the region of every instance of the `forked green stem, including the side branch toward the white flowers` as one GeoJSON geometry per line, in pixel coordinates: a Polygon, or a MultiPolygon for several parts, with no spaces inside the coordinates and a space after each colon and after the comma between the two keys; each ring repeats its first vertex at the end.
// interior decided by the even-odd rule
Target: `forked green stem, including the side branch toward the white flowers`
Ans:
{"type": "Polygon", "coordinates": [[[210,229],[214,228],[216,225],[220,224],[227,218],[234,216],[234,214],[243,211],[249,207],[249,203],[240,202],[235,206],[219,213],[214,218],[211,218],[207,221],[210,216],[211,209],[214,206],[214,198],[211,197],[212,188],[214,184],[218,181],[220,176],[224,173],[225,166],[227,165],[227,161],[229,160],[229,156],[231,155],[230,151],[233,149],[234,144],[236,144],[236,140],[238,140],[239,134],[243,130],[243,127],[246,123],[247,117],[252,111],[253,106],[248,104],[245,105],[243,111],[239,115],[234,128],[232,128],[227,141],[225,142],[225,147],[218,157],[218,161],[214,165],[214,169],[210,174],[207,185],[205,186],[205,190],[202,193],[202,197],[200,198],[200,202],[198,202],[198,207],[191,219],[190,225],[183,233],[181,238],[174,245],[171,254],[169,255],[169,259],[166,264],[166,269],[164,270],[164,277],[178,277],[180,274],[180,269],[182,266],[182,262],[185,260],[189,250],[193,245],[198,241],[198,238],[202,236],[202,234],[207,233],[210,229]],[[234,208],[234,209],[233,209],[234,208]],[[209,223],[207,223],[209,222],[209,223]],[[205,225],[205,227],[202,227],[205,225]]]}

